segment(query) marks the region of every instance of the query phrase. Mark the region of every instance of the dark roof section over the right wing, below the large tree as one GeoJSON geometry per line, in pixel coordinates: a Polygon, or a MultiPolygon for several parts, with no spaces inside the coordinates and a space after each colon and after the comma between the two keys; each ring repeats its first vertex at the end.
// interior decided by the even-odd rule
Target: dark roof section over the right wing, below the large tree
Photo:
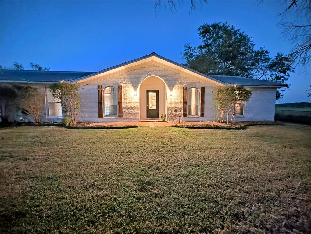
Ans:
{"type": "Polygon", "coordinates": [[[214,79],[220,80],[228,85],[236,84],[236,85],[283,85],[281,83],[276,83],[268,80],[258,80],[252,78],[246,78],[242,76],[223,76],[223,75],[208,75],[213,77],[214,79]]]}

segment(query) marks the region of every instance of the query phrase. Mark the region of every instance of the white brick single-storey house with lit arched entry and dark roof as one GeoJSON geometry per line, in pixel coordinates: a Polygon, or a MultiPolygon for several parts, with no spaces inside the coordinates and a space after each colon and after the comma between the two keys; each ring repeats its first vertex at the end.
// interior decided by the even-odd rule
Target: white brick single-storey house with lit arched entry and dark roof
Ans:
{"type": "Polygon", "coordinates": [[[95,73],[16,72],[2,70],[0,81],[26,82],[45,92],[42,121],[62,118],[61,104],[49,93],[49,85],[57,81],[80,83],[78,121],[82,122],[138,122],[159,119],[161,114],[175,120],[180,116],[181,121],[212,121],[217,116],[211,103],[213,87],[232,84],[252,91],[251,98],[235,109],[234,121],[273,121],[276,89],[286,86],[239,76],[204,75],[156,53],[95,73]]]}

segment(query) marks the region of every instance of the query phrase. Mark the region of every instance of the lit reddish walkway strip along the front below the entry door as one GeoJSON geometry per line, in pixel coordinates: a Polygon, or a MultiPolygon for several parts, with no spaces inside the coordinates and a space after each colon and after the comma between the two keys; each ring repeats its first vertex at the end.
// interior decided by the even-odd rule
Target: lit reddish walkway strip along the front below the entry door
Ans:
{"type": "MultiPolygon", "coordinates": [[[[205,125],[205,124],[213,124],[213,125],[226,125],[224,123],[217,123],[212,121],[201,121],[201,122],[181,122],[180,125],[205,125]]],[[[172,125],[179,125],[179,122],[156,122],[156,121],[149,121],[149,122],[112,122],[112,123],[91,123],[89,126],[125,126],[125,125],[139,125],[142,127],[159,127],[159,126],[172,126],[172,125]]]]}

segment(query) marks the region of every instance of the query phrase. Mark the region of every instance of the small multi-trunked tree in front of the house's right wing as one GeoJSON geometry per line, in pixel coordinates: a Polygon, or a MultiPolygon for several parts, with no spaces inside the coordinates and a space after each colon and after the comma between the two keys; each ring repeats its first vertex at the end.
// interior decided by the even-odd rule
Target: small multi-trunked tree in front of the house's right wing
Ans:
{"type": "Polygon", "coordinates": [[[213,89],[214,97],[212,103],[219,113],[220,122],[223,121],[224,115],[227,114],[227,123],[229,124],[229,113],[231,115],[230,124],[232,123],[234,106],[238,103],[248,100],[252,92],[244,86],[230,85],[219,86],[213,89]]]}

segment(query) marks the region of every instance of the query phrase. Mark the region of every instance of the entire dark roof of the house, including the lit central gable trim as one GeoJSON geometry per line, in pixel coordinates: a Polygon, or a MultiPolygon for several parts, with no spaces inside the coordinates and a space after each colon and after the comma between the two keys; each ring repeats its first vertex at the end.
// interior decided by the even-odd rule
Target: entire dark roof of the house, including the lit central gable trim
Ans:
{"type": "Polygon", "coordinates": [[[155,52],[133,59],[119,65],[106,68],[98,72],[84,71],[30,71],[30,70],[0,70],[1,82],[25,82],[52,84],[58,81],[79,82],[81,85],[92,83],[95,79],[103,79],[138,67],[156,64],[167,69],[192,76],[203,82],[212,82],[217,85],[244,85],[248,87],[286,87],[287,85],[268,80],[258,80],[242,76],[205,75],[182,64],[162,57],[155,52]]]}

